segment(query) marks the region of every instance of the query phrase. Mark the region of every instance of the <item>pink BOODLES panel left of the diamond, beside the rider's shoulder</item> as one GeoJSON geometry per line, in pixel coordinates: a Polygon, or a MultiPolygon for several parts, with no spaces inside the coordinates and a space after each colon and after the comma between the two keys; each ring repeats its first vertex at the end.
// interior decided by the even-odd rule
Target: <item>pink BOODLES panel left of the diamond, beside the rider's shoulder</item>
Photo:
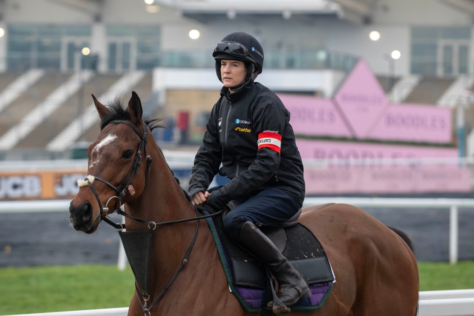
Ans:
{"type": "Polygon", "coordinates": [[[291,94],[278,97],[290,112],[295,134],[352,137],[332,100],[291,94]]]}

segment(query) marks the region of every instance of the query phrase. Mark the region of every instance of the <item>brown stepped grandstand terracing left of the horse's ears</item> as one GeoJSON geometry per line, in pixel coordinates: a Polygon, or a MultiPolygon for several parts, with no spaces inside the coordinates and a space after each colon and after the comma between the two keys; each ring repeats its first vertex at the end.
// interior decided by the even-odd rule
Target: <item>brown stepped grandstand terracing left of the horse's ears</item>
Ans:
{"type": "MultiPolygon", "coordinates": [[[[20,76],[21,74],[19,73],[1,73],[0,93],[20,76]]],[[[74,81],[72,76],[73,74],[47,73],[40,80],[32,82],[23,93],[6,104],[4,109],[0,110],[0,139],[8,131],[10,134],[15,134],[22,124],[28,125],[28,115],[31,117],[31,114],[38,111],[41,106],[47,107],[50,103],[48,101],[56,101],[52,99],[54,99],[58,92],[62,92],[67,95],[65,101],[61,101],[50,115],[43,112],[40,112],[40,115],[38,115],[36,112],[36,118],[38,119],[35,123],[36,127],[24,135],[24,138],[17,140],[13,146],[13,149],[18,151],[26,149],[44,150],[46,145],[77,118],[81,111],[92,104],[91,94],[97,97],[104,95],[123,75],[94,74],[94,76],[88,76],[84,84],[79,84],[79,88],[73,90],[71,95],[68,95],[68,92],[61,90],[64,90],[64,83],[68,82],[68,80],[74,81]],[[44,114],[44,117],[41,117],[41,114],[44,114]]],[[[123,99],[128,97],[128,92],[131,92],[131,90],[135,90],[141,96],[145,108],[152,107],[149,111],[154,111],[154,105],[150,102],[153,95],[151,74],[143,77],[143,79],[131,87],[130,91],[124,91],[127,92],[127,95],[122,95],[123,99]]],[[[101,101],[107,103],[111,100],[101,101]]],[[[153,101],[153,98],[151,101],[153,101]]],[[[98,132],[98,124],[94,124],[84,130],[80,140],[95,140],[98,132]]]]}

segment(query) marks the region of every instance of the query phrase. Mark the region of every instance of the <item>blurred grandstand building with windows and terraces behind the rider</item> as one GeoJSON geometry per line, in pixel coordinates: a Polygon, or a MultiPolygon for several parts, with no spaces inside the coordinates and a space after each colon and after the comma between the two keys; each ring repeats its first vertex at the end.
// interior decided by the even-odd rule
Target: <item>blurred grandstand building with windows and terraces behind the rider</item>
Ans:
{"type": "MultiPolygon", "coordinates": [[[[463,105],[473,126],[472,0],[146,2],[0,1],[1,159],[68,158],[99,131],[90,94],[132,90],[171,129],[189,114],[184,145],[195,144],[220,88],[212,48],[236,30],[262,42],[258,80],[276,92],[330,98],[362,58],[391,102],[463,105]]],[[[174,135],[163,146],[183,144],[174,135]]]]}

